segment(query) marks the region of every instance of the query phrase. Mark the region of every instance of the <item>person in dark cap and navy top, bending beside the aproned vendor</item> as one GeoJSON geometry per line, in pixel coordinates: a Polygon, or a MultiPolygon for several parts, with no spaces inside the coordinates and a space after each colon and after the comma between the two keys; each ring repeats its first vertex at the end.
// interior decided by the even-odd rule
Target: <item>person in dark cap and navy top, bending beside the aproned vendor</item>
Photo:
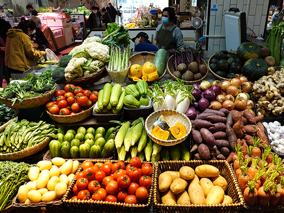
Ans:
{"type": "Polygon", "coordinates": [[[131,40],[134,42],[134,51],[157,51],[159,49],[149,41],[149,36],[144,32],[140,32],[131,40]]]}

